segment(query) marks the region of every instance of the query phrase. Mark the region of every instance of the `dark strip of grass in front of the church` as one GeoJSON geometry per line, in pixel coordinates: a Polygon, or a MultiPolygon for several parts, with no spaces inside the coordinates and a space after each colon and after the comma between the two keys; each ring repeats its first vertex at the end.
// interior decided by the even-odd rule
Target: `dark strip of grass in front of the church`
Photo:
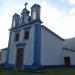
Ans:
{"type": "Polygon", "coordinates": [[[75,75],[75,68],[44,69],[40,72],[0,69],[0,75],[75,75]]]}

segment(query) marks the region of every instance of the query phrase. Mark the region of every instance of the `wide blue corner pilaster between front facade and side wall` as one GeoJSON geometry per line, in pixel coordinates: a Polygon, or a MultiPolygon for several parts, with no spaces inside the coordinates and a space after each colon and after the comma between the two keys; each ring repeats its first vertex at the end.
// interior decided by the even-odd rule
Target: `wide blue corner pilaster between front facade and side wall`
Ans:
{"type": "Polygon", "coordinates": [[[34,59],[33,66],[40,66],[40,58],[41,57],[41,25],[38,22],[35,24],[34,31],[34,59]]]}

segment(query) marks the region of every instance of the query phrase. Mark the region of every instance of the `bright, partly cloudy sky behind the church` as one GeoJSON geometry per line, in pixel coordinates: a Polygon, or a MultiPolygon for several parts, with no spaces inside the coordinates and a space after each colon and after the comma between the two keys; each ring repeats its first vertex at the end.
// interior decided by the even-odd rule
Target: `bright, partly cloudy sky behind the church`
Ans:
{"type": "Polygon", "coordinates": [[[75,37],[75,0],[0,0],[0,49],[8,46],[12,16],[21,14],[24,3],[27,9],[40,4],[43,25],[60,37],[75,37]]]}

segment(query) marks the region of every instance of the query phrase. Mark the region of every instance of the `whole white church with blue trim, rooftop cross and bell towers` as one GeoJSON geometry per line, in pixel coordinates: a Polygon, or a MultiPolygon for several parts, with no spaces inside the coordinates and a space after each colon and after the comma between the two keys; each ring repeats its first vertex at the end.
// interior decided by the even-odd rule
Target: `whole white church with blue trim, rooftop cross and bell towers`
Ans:
{"type": "Polygon", "coordinates": [[[34,4],[31,13],[26,6],[27,3],[21,16],[15,13],[12,17],[5,68],[24,70],[75,66],[75,38],[63,39],[42,25],[40,5],[34,4]]]}

